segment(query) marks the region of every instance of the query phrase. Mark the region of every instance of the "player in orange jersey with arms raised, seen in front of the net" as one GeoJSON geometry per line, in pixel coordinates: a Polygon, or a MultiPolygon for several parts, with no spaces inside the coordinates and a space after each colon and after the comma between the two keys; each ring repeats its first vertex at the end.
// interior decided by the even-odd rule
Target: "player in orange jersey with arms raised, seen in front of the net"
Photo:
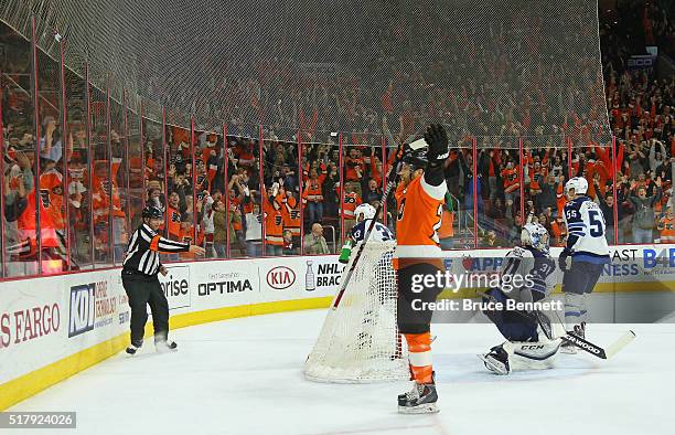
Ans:
{"type": "Polygon", "coordinates": [[[407,151],[399,171],[396,190],[396,251],[394,267],[398,282],[397,323],[408,343],[409,365],[415,385],[398,396],[398,411],[404,414],[438,412],[436,384],[431,368],[430,323],[432,311],[425,303],[432,303],[442,290],[435,284],[417,290],[416,275],[443,272],[440,259],[440,229],[442,205],[448,190],[443,162],[448,158],[448,137],[440,125],[427,129],[428,149],[407,151]]]}

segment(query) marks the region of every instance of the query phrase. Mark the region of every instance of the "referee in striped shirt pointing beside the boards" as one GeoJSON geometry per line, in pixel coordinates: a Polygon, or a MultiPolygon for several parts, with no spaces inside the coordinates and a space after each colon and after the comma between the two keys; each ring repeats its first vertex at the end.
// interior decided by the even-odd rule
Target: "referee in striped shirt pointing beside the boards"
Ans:
{"type": "Polygon", "coordinates": [[[127,348],[129,354],[136,353],[143,344],[148,320],[147,304],[152,311],[157,350],[178,348],[174,341],[169,341],[169,303],[157,278],[158,273],[167,275],[169,270],[160,263],[159,254],[191,252],[204,255],[204,250],[200,246],[170,241],[157,234],[164,222],[162,211],[157,206],[146,206],[142,216],[143,223],[129,240],[121,272],[122,286],[131,307],[131,344],[127,348]]]}

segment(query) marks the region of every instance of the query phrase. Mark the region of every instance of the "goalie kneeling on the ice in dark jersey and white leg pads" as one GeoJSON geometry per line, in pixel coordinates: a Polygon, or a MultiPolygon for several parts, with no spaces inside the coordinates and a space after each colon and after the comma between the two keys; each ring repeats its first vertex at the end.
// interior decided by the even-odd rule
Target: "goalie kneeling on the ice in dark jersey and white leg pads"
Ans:
{"type": "MultiPolygon", "coordinates": [[[[484,301],[501,303],[504,307],[508,299],[526,304],[539,301],[553,291],[555,270],[556,264],[548,254],[548,232],[538,223],[528,223],[523,227],[521,246],[514,247],[504,258],[502,287],[490,289],[484,301]]],[[[553,338],[550,321],[544,312],[536,309],[483,312],[507,340],[479,356],[489,370],[508,374],[553,367],[560,338],[553,338]]]]}

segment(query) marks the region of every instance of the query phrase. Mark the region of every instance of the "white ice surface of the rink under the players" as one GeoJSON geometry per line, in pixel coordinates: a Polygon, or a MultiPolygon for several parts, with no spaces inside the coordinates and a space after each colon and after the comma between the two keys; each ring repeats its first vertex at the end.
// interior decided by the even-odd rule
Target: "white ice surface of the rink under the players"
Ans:
{"type": "MultiPolygon", "coordinates": [[[[64,434],[671,434],[675,325],[590,325],[609,361],[560,356],[553,370],[497,376],[475,356],[500,343],[491,325],[433,325],[441,412],[399,415],[407,382],[312,383],[302,376],[325,311],[208,323],[172,332],[178,352],[120,353],[9,411],[76,411],[64,434]]],[[[9,432],[8,432],[9,433],[9,432]]],[[[44,431],[11,431],[12,434],[44,431]]]]}

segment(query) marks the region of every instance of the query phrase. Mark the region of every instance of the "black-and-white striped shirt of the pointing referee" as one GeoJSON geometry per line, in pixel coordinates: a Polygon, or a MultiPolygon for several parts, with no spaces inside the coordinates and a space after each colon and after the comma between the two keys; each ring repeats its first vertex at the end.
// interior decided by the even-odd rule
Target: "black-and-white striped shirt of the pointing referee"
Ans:
{"type": "Polygon", "coordinates": [[[159,253],[173,254],[190,251],[188,243],[170,241],[157,234],[147,224],[142,224],[131,235],[124,268],[156,276],[160,268],[159,253]]]}

